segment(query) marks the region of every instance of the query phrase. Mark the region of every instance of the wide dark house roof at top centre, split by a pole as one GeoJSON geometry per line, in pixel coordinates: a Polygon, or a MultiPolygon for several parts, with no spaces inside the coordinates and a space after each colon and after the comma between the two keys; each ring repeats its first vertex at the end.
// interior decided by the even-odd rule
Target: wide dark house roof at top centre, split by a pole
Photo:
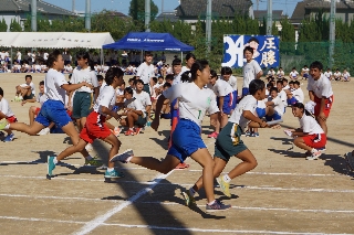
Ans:
{"type": "MultiPolygon", "coordinates": [[[[180,0],[176,8],[178,18],[205,17],[207,11],[206,0],[180,0]]],[[[248,13],[252,6],[251,0],[217,0],[212,1],[212,17],[235,17],[237,13],[248,13]]]]}

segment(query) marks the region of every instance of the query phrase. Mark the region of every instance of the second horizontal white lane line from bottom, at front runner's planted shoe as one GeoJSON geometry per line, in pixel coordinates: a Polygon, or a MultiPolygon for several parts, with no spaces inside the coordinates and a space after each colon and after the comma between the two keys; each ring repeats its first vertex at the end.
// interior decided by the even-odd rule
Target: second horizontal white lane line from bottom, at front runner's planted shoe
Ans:
{"type": "MultiPolygon", "coordinates": [[[[70,196],[45,196],[45,195],[21,195],[21,194],[0,194],[0,197],[28,197],[28,199],[49,199],[49,200],[77,200],[77,201],[95,201],[95,202],[104,202],[107,201],[111,203],[121,203],[123,200],[103,200],[103,199],[87,199],[87,197],[70,197],[70,196]]],[[[134,203],[134,202],[133,202],[134,203]]],[[[160,204],[160,205],[177,205],[185,206],[176,202],[160,202],[160,201],[149,201],[149,202],[138,202],[134,204],[160,204]]],[[[198,207],[205,207],[204,204],[197,205],[198,207]]],[[[251,206],[232,206],[232,209],[237,210],[250,210],[250,211],[285,211],[285,212],[311,212],[311,213],[354,213],[354,210],[327,210],[327,209],[284,209],[284,207],[251,207],[251,206]]]]}

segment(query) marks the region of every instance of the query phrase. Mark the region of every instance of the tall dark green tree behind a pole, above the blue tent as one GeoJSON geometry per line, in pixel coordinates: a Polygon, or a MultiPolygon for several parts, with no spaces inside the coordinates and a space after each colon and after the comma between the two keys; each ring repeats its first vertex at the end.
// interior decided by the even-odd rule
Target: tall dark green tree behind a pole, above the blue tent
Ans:
{"type": "MultiPolygon", "coordinates": [[[[150,1],[150,20],[153,21],[158,13],[158,8],[153,0],[150,1]]],[[[145,0],[131,0],[129,15],[135,21],[145,22],[145,0]]]]}

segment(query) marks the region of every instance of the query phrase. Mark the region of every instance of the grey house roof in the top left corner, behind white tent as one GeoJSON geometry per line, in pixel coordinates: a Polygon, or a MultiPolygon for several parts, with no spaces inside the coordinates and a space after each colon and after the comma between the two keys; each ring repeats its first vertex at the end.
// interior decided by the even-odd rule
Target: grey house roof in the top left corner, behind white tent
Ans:
{"type": "MultiPolygon", "coordinates": [[[[31,0],[0,0],[0,12],[30,12],[31,2],[31,0]]],[[[37,1],[37,10],[38,13],[42,14],[75,15],[72,11],[67,11],[42,0],[37,1]]]]}

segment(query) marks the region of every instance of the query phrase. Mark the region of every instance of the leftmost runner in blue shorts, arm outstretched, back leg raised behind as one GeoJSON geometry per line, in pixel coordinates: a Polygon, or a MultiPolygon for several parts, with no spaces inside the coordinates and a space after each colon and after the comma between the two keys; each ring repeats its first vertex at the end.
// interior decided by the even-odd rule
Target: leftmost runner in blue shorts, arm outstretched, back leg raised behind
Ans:
{"type": "MultiPolygon", "coordinates": [[[[86,82],[69,85],[65,81],[65,76],[60,72],[64,67],[64,60],[59,50],[54,50],[48,57],[48,65],[50,70],[45,74],[44,85],[46,90],[48,100],[44,102],[40,114],[37,116],[32,125],[22,122],[11,124],[8,121],[0,122],[0,130],[17,130],[25,132],[31,136],[35,136],[40,130],[48,127],[51,122],[54,122],[59,128],[71,138],[75,145],[79,142],[79,132],[76,131],[74,124],[69,117],[64,104],[65,104],[65,90],[72,92],[82,86],[92,87],[86,82]]],[[[82,156],[86,159],[86,163],[98,164],[97,161],[88,154],[86,150],[83,150],[82,156]]]]}

